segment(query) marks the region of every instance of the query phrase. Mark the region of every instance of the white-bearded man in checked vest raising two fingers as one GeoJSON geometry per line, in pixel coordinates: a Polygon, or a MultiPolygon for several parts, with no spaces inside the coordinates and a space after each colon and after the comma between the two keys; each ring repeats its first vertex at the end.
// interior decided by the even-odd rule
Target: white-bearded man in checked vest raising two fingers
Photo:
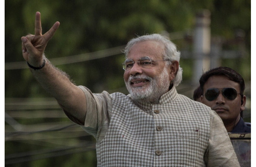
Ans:
{"type": "Polygon", "coordinates": [[[99,167],[239,167],[219,116],[176,91],[182,79],[180,52],[159,34],[130,40],[124,81],[130,94],[93,94],[76,86],[44,56],[60,23],[42,35],[21,37],[32,74],[57,99],[65,114],[96,140],[99,167]]]}

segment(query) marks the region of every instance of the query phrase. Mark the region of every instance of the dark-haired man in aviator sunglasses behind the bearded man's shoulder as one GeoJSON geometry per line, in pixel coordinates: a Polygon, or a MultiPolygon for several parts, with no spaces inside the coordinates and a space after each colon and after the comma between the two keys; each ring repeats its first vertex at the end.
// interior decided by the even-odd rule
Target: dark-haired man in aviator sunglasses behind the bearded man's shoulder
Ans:
{"type": "Polygon", "coordinates": [[[227,132],[251,133],[251,126],[243,121],[246,96],[243,77],[228,67],[213,68],[199,79],[203,90],[201,102],[216,111],[227,132]]]}

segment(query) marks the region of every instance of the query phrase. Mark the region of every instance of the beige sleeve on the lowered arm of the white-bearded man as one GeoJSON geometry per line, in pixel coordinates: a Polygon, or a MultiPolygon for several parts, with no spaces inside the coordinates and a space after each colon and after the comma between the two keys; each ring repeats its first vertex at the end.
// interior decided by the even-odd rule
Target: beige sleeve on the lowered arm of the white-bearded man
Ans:
{"type": "Polygon", "coordinates": [[[207,167],[240,167],[222,119],[210,112],[209,146],[205,155],[207,167]]]}

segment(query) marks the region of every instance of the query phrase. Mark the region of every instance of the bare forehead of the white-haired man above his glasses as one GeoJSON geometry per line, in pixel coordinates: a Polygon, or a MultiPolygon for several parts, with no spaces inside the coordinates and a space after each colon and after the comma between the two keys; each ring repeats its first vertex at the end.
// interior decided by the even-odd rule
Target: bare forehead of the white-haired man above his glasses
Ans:
{"type": "Polygon", "coordinates": [[[139,60],[142,57],[149,57],[152,60],[162,59],[164,53],[164,45],[154,40],[143,41],[134,44],[128,55],[128,59],[139,60]]]}

